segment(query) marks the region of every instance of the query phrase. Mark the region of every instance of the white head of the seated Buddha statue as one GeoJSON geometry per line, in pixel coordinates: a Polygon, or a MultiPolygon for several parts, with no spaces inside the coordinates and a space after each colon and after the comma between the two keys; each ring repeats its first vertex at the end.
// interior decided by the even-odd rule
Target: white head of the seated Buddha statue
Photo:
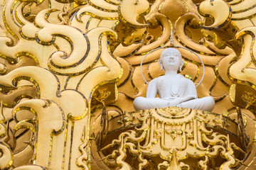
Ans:
{"type": "Polygon", "coordinates": [[[181,68],[184,64],[181,58],[181,52],[179,52],[176,48],[166,48],[163,52],[161,52],[159,58],[159,65],[161,70],[164,69],[172,69],[181,72],[181,68]]]}

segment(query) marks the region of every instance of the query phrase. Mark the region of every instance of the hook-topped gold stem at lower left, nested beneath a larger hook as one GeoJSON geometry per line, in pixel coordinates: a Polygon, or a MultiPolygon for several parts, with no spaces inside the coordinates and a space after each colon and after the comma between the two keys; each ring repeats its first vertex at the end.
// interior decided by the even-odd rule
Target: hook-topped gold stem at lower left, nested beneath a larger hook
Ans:
{"type": "Polygon", "coordinates": [[[36,160],[38,164],[50,166],[48,160],[55,154],[52,143],[53,135],[58,135],[63,132],[65,128],[64,113],[60,106],[51,101],[31,99],[18,103],[18,105],[14,107],[13,114],[16,115],[18,111],[24,109],[36,115],[37,137],[33,159],[36,160]]]}

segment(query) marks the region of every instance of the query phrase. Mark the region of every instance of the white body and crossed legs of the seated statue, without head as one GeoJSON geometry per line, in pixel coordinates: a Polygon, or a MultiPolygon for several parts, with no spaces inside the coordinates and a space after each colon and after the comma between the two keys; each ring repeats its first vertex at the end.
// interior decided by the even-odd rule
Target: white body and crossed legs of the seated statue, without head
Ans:
{"type": "Polygon", "coordinates": [[[212,111],[214,105],[215,101],[210,96],[198,98],[193,81],[181,74],[164,75],[153,79],[146,91],[146,98],[138,97],[134,100],[134,108],[137,111],[170,106],[212,111]],[[159,98],[156,98],[156,94],[159,94],[159,98]]]}

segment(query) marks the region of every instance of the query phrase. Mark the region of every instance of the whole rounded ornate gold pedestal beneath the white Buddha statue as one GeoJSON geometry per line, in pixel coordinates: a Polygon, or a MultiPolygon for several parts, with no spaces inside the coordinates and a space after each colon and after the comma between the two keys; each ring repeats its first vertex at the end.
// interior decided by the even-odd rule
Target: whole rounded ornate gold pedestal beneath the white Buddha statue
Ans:
{"type": "Polygon", "coordinates": [[[121,127],[119,137],[101,149],[112,169],[239,169],[245,153],[235,145],[239,125],[216,113],[150,109],[126,113],[121,127]]]}

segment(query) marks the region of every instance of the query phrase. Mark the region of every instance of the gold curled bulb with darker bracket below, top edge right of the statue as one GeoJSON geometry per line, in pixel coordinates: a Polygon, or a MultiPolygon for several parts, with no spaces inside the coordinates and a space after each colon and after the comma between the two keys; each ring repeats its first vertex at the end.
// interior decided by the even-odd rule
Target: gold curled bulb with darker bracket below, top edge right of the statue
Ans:
{"type": "Polygon", "coordinates": [[[241,43],[234,40],[235,33],[238,32],[239,28],[231,21],[233,18],[232,9],[228,2],[221,0],[203,1],[198,11],[202,16],[205,16],[201,22],[203,35],[213,40],[216,47],[224,49],[228,45],[237,55],[240,54],[241,43]]]}

